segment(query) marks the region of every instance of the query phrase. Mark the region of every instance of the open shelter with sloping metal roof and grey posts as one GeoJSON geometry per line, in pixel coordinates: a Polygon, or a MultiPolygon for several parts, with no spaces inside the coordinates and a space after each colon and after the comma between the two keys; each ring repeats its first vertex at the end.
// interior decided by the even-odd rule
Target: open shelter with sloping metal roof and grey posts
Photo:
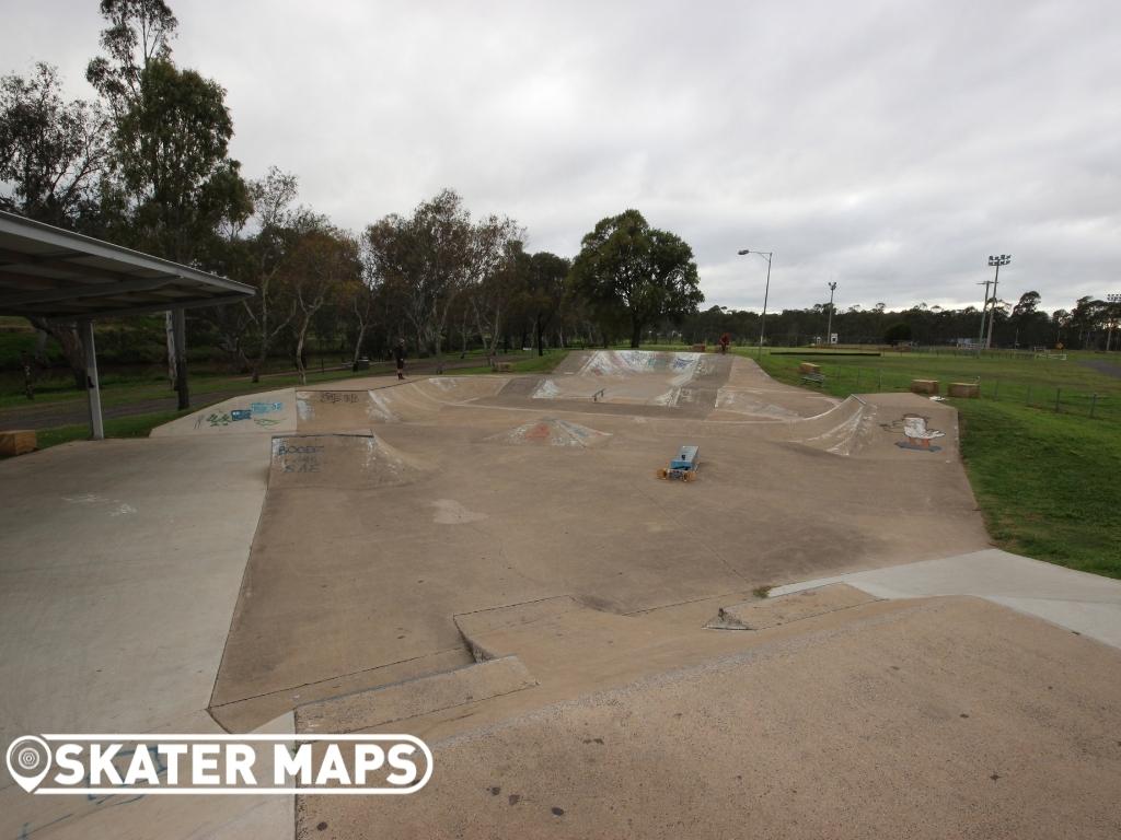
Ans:
{"type": "Polygon", "coordinates": [[[0,315],[75,324],[85,353],[90,430],[104,437],[93,323],[172,312],[179,405],[188,403],[186,320],[194,307],[251,298],[254,290],[188,265],[0,212],[0,315]]]}

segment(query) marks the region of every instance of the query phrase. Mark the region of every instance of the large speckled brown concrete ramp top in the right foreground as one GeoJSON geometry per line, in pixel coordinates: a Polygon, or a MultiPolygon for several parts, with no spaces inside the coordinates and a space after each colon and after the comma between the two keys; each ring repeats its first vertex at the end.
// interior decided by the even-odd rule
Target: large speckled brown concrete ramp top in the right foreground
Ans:
{"type": "Polygon", "coordinates": [[[1115,837],[1117,652],[976,599],[892,606],[491,726],[410,721],[424,794],[309,796],[298,836],[1115,837]]]}

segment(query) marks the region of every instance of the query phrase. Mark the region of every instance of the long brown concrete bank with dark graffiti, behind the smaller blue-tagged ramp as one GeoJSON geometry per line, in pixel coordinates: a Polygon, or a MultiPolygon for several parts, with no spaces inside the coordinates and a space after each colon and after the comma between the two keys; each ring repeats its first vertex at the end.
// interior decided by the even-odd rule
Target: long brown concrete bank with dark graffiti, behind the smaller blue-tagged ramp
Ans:
{"type": "Polygon", "coordinates": [[[368,390],[296,392],[298,429],[355,431],[379,423],[424,422],[448,405],[493,396],[503,376],[434,376],[368,390]]]}

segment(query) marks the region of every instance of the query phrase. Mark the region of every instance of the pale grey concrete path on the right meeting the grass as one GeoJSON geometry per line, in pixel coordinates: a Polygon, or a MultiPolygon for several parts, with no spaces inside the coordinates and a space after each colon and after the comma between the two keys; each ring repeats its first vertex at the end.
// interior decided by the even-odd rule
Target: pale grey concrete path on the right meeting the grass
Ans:
{"type": "Polygon", "coordinates": [[[1121,580],[999,549],[776,587],[771,595],[849,584],[879,598],[975,595],[1121,647],[1121,580]]]}

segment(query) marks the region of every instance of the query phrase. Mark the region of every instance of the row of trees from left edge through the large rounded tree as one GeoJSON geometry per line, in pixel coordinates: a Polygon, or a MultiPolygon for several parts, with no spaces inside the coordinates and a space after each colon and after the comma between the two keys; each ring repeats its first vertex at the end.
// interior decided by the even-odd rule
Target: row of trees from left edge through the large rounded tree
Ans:
{"type": "MultiPolygon", "coordinates": [[[[243,305],[192,310],[188,332],[254,381],[279,353],[306,377],[313,336],[354,363],[405,338],[442,364],[478,348],[637,346],[646,327],[703,300],[689,246],[637,211],[602,220],[575,260],[530,252],[515,220],[475,218],[453,189],[345,230],[299,202],[294,172],[242,174],[225,91],[175,63],[167,3],[100,10],[101,52],[86,68],[95,101],[67,100],[45,62],[0,80],[0,208],[252,286],[243,305]]],[[[33,320],[81,386],[74,325],[33,320]]],[[[174,379],[170,338],[166,353],[174,379]]]]}

